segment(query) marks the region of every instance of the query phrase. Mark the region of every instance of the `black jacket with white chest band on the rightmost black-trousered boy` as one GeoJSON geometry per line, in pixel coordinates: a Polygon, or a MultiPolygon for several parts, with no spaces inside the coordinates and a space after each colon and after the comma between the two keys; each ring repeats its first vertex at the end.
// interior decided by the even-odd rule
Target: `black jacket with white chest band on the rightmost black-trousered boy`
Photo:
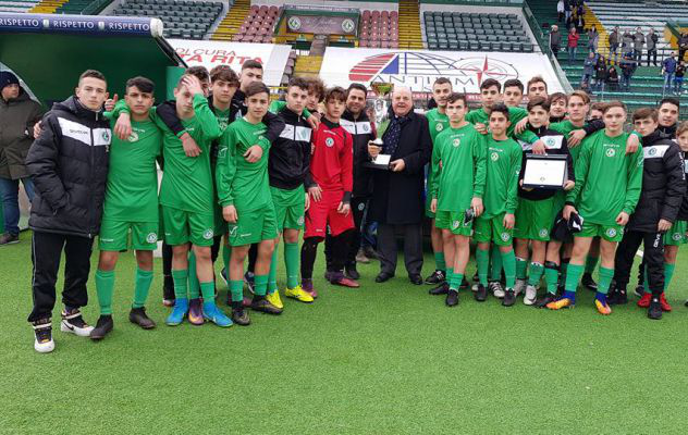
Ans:
{"type": "Polygon", "coordinates": [[[627,228],[655,232],[660,219],[676,222],[686,194],[686,178],[678,145],[654,132],[642,138],[642,190],[627,228]]]}

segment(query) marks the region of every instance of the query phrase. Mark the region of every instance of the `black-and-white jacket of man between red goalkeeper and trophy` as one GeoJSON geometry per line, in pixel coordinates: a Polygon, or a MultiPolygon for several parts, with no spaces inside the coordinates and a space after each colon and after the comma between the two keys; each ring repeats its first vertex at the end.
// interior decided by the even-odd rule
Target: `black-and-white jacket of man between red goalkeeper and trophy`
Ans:
{"type": "Polygon", "coordinates": [[[354,197],[367,198],[372,194],[371,170],[364,166],[369,161],[368,141],[374,140],[377,132],[364,110],[354,116],[348,110],[344,111],[340,120],[342,127],[354,137],[354,197]]]}

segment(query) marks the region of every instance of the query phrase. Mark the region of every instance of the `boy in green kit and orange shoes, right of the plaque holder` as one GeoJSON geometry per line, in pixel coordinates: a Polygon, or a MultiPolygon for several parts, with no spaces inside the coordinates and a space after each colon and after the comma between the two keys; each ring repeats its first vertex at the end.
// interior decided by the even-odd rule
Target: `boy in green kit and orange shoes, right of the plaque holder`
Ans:
{"type": "Polygon", "coordinates": [[[564,295],[546,307],[558,310],[576,303],[576,287],[583,272],[586,256],[595,236],[600,236],[600,282],[595,307],[600,314],[611,314],[606,301],[614,276],[616,244],[622,239],[624,225],[634,212],[642,183],[642,149],[627,154],[624,133],[626,107],[612,101],[604,108],[604,130],[588,137],[576,162],[576,186],[566,196],[564,219],[573,213],[582,217],[582,229],[575,234],[574,250],[564,295]]]}

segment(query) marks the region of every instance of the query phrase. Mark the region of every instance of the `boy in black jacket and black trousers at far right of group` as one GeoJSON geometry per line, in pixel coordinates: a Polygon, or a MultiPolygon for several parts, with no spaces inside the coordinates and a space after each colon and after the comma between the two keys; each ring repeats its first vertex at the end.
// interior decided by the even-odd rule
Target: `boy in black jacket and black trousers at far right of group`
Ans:
{"type": "Polygon", "coordinates": [[[640,243],[652,291],[648,316],[662,318],[661,298],[664,291],[663,233],[676,221],[685,187],[680,149],[658,130],[658,111],[639,109],[634,113],[636,130],[642,135],[644,154],[642,191],[635,213],[626,225],[624,238],[616,249],[613,293],[610,303],[626,303],[626,285],[634,257],[640,243]]]}

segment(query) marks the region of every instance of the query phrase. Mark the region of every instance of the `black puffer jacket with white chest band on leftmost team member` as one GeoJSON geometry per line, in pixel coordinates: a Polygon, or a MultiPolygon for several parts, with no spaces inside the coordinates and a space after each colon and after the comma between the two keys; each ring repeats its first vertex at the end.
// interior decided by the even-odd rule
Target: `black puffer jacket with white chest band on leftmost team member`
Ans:
{"type": "Polygon", "coordinates": [[[110,122],[70,97],[52,107],[41,127],[26,157],[36,186],[28,225],[94,237],[100,231],[108,178],[110,122]]]}

